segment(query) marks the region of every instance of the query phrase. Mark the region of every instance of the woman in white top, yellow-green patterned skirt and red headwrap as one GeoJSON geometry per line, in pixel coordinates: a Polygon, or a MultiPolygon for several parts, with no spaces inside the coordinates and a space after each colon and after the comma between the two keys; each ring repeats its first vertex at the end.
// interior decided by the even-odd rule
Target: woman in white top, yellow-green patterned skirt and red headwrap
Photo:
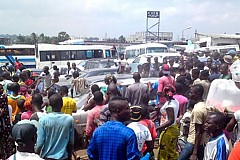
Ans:
{"type": "Polygon", "coordinates": [[[175,90],[172,86],[165,86],[163,89],[163,96],[167,99],[167,102],[160,109],[162,115],[161,125],[156,128],[157,131],[161,131],[158,149],[159,160],[175,160],[178,158],[176,146],[179,129],[176,119],[179,111],[179,103],[173,98],[174,93],[175,90]]]}

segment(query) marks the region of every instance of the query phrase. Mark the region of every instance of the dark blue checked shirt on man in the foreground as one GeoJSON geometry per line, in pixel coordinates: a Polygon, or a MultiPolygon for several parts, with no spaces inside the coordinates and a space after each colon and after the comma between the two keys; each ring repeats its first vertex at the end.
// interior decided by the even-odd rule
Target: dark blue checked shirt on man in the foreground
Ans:
{"type": "Polygon", "coordinates": [[[140,159],[134,131],[117,121],[108,121],[98,127],[88,146],[89,159],[140,159]]]}

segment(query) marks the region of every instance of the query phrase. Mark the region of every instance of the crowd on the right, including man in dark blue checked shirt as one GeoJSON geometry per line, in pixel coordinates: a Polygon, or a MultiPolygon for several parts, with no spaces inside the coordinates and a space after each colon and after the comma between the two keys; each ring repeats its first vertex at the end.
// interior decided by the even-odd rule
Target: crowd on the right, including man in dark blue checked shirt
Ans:
{"type": "MultiPolygon", "coordinates": [[[[156,64],[151,64],[149,57],[146,64],[138,67],[142,69],[133,73],[135,83],[127,87],[126,94],[122,94],[114,77],[107,80],[106,93],[101,93],[100,88],[92,89],[94,98],[85,108],[90,110],[86,129],[89,158],[139,159],[149,153],[150,158],[162,160],[239,159],[239,142],[235,138],[239,133],[232,132],[239,123],[238,112],[228,114],[206,104],[211,83],[217,79],[239,86],[239,77],[232,77],[230,72],[238,54],[184,54],[177,67],[171,59],[162,65],[154,59],[156,64]],[[158,73],[157,82],[141,83],[141,77],[151,77],[152,73],[158,73]],[[154,90],[157,94],[153,107],[149,100],[154,90]],[[89,132],[88,127],[94,123],[89,132]],[[131,144],[124,138],[132,135],[129,128],[137,138],[133,142],[129,137],[131,144]],[[155,155],[154,148],[158,149],[155,155]]],[[[240,70],[236,72],[239,74],[240,70]]]]}

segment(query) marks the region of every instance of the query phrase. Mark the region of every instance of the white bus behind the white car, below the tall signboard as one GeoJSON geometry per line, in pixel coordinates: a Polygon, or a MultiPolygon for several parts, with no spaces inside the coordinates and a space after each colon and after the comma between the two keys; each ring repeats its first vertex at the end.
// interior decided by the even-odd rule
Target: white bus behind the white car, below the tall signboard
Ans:
{"type": "MultiPolygon", "coordinates": [[[[160,43],[146,43],[126,47],[125,58],[130,62],[135,57],[147,53],[167,53],[168,47],[160,43]]],[[[130,62],[131,63],[131,62],[130,62]]]]}

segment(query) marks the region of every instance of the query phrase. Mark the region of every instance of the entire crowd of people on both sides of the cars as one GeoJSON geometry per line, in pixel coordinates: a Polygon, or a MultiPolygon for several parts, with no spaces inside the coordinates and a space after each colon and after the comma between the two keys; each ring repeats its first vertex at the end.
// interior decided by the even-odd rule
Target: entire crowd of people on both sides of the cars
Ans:
{"type": "MultiPolygon", "coordinates": [[[[105,89],[91,86],[84,105],[88,158],[240,159],[240,132],[235,132],[240,112],[220,112],[206,104],[211,83],[218,79],[240,89],[240,70],[235,66],[234,76],[230,70],[238,52],[184,53],[178,65],[171,58],[163,64],[148,59],[132,74],[134,83],[126,92],[114,75],[106,76],[105,89]],[[158,81],[141,82],[151,76],[158,81]]],[[[0,159],[77,159],[72,97],[86,84],[76,64],[68,63],[70,88],[58,85],[57,66],[53,71],[45,66],[34,77],[18,65],[15,72],[6,69],[0,75],[0,159]]]]}

